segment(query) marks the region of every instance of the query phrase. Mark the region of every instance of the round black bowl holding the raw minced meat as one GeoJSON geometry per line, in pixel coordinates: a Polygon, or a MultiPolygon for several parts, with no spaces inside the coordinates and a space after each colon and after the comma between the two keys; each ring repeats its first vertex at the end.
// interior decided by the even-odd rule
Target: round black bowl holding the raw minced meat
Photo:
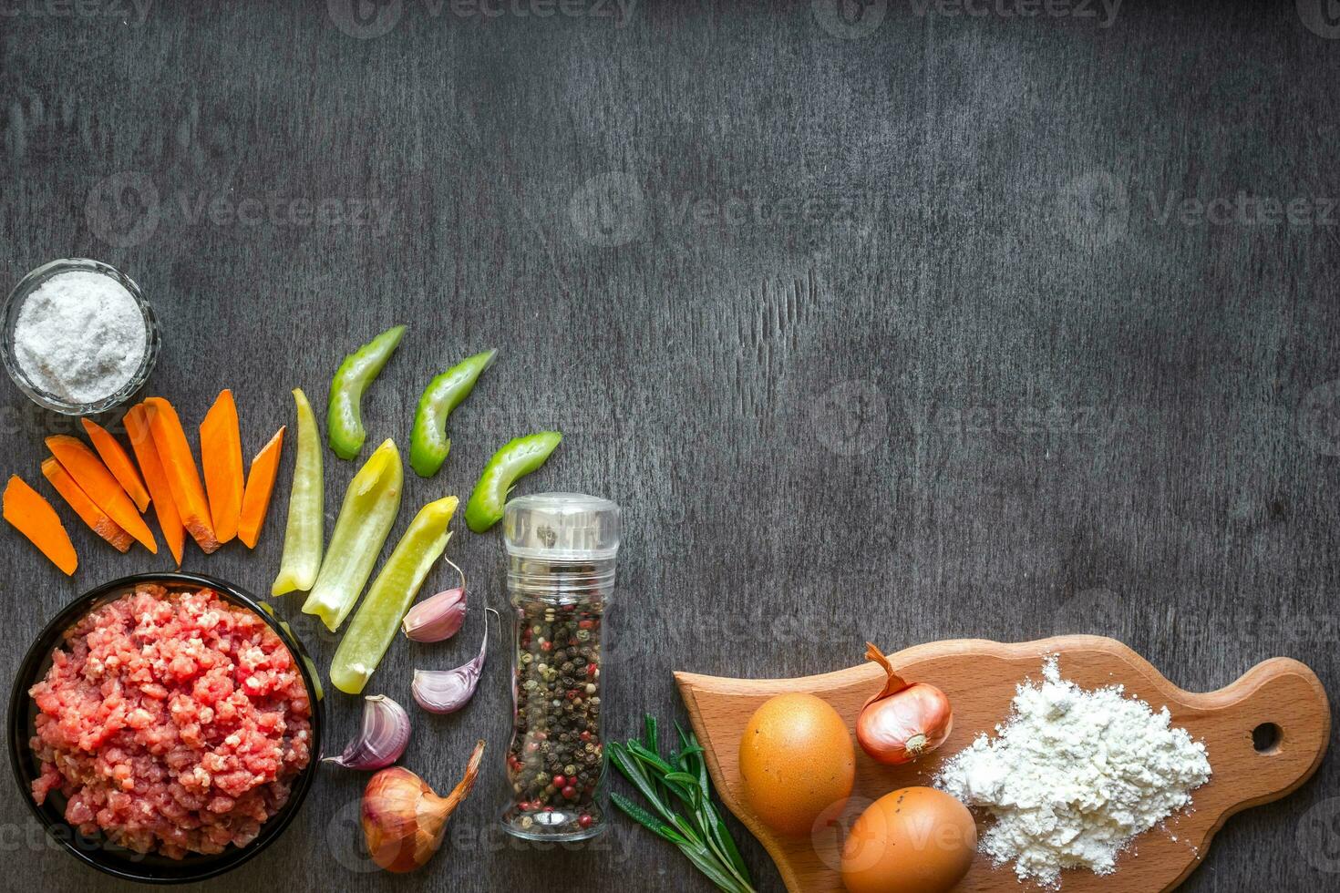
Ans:
{"type": "Polygon", "coordinates": [[[284,829],[288,827],[288,823],[293,821],[297,809],[307,798],[307,791],[311,790],[312,779],[316,778],[316,767],[320,763],[324,710],[320,692],[320,681],[315,665],[307,656],[307,651],[302,643],[297,641],[297,637],[288,628],[288,624],[275,617],[269,608],[264,606],[264,602],[257,602],[244,589],[239,589],[222,580],[194,573],[142,573],[133,577],[122,577],[121,580],[106,582],[66,605],[64,611],[46,625],[42,635],[38,636],[38,641],[28,649],[23,664],[19,667],[19,673],[15,676],[13,688],[9,692],[9,762],[13,764],[13,775],[19,782],[20,795],[28,803],[32,814],[42,822],[47,834],[60,842],[79,861],[114,877],[143,884],[204,881],[205,878],[232,870],[260,853],[273,843],[284,833],[284,829]],[[303,681],[307,684],[307,692],[312,702],[312,758],[307,768],[293,779],[288,802],[269,821],[261,825],[260,834],[247,846],[229,845],[222,853],[213,856],[192,853],[181,860],[169,858],[158,853],[139,854],[110,842],[102,834],[92,837],[80,834],[66,822],[66,798],[58,791],[52,791],[47,802],[42,806],[38,806],[32,799],[32,781],[40,774],[40,767],[32,748],[28,746],[35,734],[34,720],[38,715],[36,704],[28,698],[28,689],[46,676],[47,669],[51,667],[51,652],[60,643],[60,636],[66,629],[78,623],[80,617],[94,608],[119,598],[141,582],[157,582],[169,589],[200,589],[208,586],[216,590],[225,601],[255,612],[261,620],[269,624],[283,643],[288,645],[289,652],[297,659],[297,667],[303,673],[303,681]]]}

